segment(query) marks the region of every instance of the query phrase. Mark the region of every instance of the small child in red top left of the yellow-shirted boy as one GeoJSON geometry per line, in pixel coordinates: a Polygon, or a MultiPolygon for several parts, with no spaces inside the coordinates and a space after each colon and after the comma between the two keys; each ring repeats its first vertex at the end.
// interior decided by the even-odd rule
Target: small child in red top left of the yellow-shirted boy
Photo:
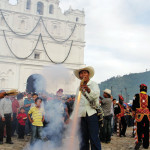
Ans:
{"type": "Polygon", "coordinates": [[[25,110],[23,107],[20,108],[20,113],[18,114],[17,119],[18,119],[18,139],[24,139],[25,121],[27,119],[27,115],[25,114],[25,110]]]}

